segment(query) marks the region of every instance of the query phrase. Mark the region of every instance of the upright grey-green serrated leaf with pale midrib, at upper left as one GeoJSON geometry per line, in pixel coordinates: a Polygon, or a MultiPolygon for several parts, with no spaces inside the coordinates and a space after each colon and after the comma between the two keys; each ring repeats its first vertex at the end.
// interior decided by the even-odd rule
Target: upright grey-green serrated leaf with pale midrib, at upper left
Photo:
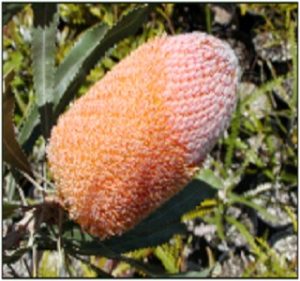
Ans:
{"type": "Polygon", "coordinates": [[[45,138],[52,127],[53,87],[55,75],[55,35],[57,15],[55,4],[33,4],[32,69],[39,107],[42,131],[45,138]]]}

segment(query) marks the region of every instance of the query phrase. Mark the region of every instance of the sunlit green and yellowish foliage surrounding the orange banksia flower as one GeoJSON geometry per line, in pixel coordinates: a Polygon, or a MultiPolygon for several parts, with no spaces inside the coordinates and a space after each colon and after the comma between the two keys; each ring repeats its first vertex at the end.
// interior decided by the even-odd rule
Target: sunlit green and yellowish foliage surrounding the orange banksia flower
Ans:
{"type": "MultiPolygon", "coordinates": [[[[276,207],[287,218],[289,235],[298,231],[297,205],[274,195],[298,194],[297,4],[234,5],[242,19],[263,19],[251,32],[253,37],[271,34],[262,44],[268,54],[284,42],[288,58],[284,67],[272,56],[259,55],[252,61],[256,68],[242,66],[231,126],[183,192],[134,230],[104,242],[84,233],[48,199],[55,186],[45,145],[59,114],[140,44],[164,33],[191,31],[193,18],[184,13],[184,5],[59,4],[55,14],[51,5],[43,10],[3,3],[4,276],[226,276],[220,245],[229,248],[225,260],[247,256],[239,276],[296,276],[296,258],[280,255],[269,229],[253,232],[243,216],[254,213],[277,227],[276,207]],[[90,46],[94,49],[88,53],[90,46]],[[47,77],[39,76],[43,69],[47,77]],[[232,214],[234,208],[239,216],[232,214]],[[213,242],[195,250],[199,238],[187,228],[191,222],[213,227],[213,242]],[[230,240],[232,229],[245,249],[230,240]],[[197,251],[200,261],[191,261],[189,255],[197,251]]],[[[197,5],[198,29],[215,34],[214,6],[197,5]]]]}

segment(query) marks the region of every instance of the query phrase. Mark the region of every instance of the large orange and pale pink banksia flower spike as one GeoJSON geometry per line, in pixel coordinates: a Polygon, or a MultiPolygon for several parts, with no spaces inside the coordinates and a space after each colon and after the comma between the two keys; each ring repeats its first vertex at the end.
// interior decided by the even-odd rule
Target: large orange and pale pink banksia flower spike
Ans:
{"type": "Polygon", "coordinates": [[[181,190],[229,123],[238,62],[204,34],[140,46],[63,114],[47,149],[70,217],[122,234],[181,190]]]}

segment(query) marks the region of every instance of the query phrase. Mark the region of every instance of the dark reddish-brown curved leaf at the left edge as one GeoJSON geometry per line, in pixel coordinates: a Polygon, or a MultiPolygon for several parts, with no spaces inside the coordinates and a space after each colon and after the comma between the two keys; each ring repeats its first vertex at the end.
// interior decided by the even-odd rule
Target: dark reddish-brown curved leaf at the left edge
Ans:
{"type": "Polygon", "coordinates": [[[5,90],[6,93],[3,96],[3,158],[4,161],[12,167],[18,168],[19,170],[32,175],[27,157],[16,140],[13,124],[15,102],[10,89],[10,79],[12,78],[8,77],[5,79],[5,86],[8,88],[5,90]]]}

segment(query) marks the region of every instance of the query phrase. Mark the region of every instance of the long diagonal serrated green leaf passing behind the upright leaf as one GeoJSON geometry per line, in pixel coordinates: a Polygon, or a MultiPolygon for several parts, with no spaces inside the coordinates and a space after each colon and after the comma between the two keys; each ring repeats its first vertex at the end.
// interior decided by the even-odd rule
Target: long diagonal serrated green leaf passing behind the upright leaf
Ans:
{"type": "MultiPolygon", "coordinates": [[[[87,35],[85,33],[82,35],[82,38],[79,39],[62,64],[57,68],[55,74],[56,86],[53,90],[55,99],[54,118],[57,118],[73,99],[90,70],[102,58],[105,52],[118,43],[118,41],[126,38],[126,36],[134,34],[140,24],[146,20],[151,9],[152,6],[150,7],[149,5],[129,12],[114,27],[105,33],[105,37],[102,41],[94,40],[95,42],[90,42],[90,37],[93,35],[94,39],[99,38],[101,31],[103,31],[103,25],[97,25],[86,31],[88,33],[87,35]],[[98,37],[95,36],[97,34],[98,37]],[[87,52],[85,48],[85,38],[87,38],[87,42],[93,44],[93,49],[89,48],[89,52],[87,52]],[[84,60],[81,59],[81,57],[84,58],[84,60]],[[73,58],[76,59],[74,60],[73,58]],[[78,62],[82,62],[81,66],[79,66],[80,64],[78,62]],[[75,65],[78,67],[78,72],[74,76],[72,70],[76,69],[75,65]]],[[[33,107],[21,128],[19,142],[26,151],[32,149],[35,140],[41,133],[41,121],[38,113],[39,110],[37,106],[33,107]]],[[[55,120],[53,120],[53,122],[55,122],[55,120]]]]}

